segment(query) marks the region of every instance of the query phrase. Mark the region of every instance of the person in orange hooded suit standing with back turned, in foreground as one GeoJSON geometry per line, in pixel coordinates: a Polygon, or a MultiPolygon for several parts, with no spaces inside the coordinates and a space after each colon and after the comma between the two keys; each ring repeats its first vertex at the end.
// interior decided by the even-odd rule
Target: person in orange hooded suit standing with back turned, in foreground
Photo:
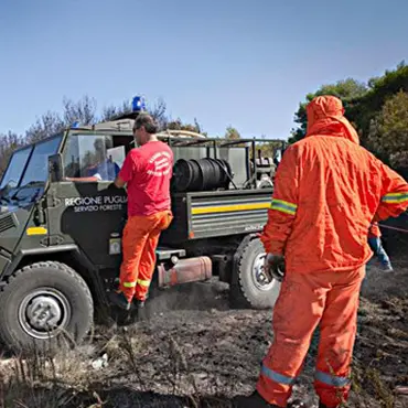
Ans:
{"type": "Polygon", "coordinates": [[[373,256],[371,223],[408,207],[408,184],[358,143],[340,99],[314,98],[307,137],[279,164],[261,240],[266,270],[284,256],[273,311],[273,343],[256,391],[239,408],[288,407],[311,336],[320,325],[314,387],[320,407],[340,407],[350,391],[361,283],[373,256]]]}

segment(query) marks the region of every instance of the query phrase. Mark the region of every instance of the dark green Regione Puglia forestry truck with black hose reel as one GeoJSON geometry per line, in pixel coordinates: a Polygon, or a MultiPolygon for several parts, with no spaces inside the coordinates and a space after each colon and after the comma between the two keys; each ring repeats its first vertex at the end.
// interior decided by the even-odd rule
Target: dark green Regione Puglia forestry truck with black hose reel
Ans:
{"type": "MultiPolygon", "coordinates": [[[[77,344],[108,308],[121,262],[127,194],[109,172],[135,148],[138,112],[75,126],[15,150],[0,184],[0,337],[11,350],[77,344]],[[66,339],[66,337],[65,337],[66,339]]],[[[230,284],[239,308],[271,308],[279,282],[264,273],[259,240],[282,140],[211,139],[167,131],[174,152],[174,219],[157,250],[152,287],[230,284]]],[[[159,294],[160,296],[160,294],[159,294]]]]}

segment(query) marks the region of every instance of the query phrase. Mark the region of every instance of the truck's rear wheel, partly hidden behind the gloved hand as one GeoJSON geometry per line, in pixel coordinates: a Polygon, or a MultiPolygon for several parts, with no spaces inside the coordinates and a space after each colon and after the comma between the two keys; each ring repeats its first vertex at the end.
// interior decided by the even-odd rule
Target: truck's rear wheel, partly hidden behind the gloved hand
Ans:
{"type": "Polygon", "coordinates": [[[264,275],[265,249],[259,238],[245,239],[235,255],[230,283],[230,303],[241,309],[271,309],[280,282],[264,275]]]}

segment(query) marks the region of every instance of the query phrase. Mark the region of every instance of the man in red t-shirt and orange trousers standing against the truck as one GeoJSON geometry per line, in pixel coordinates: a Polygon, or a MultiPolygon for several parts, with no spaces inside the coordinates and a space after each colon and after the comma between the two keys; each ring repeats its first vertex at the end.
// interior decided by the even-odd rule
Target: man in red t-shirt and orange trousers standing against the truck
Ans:
{"type": "Polygon", "coordinates": [[[117,187],[127,184],[128,221],[124,230],[119,290],[112,292],[112,304],[130,310],[132,301],[144,305],[155,268],[155,249],[161,232],[173,219],[170,179],[173,152],[158,140],[158,126],[147,114],[135,120],[133,133],[140,148],[132,149],[115,180],[117,187]]]}

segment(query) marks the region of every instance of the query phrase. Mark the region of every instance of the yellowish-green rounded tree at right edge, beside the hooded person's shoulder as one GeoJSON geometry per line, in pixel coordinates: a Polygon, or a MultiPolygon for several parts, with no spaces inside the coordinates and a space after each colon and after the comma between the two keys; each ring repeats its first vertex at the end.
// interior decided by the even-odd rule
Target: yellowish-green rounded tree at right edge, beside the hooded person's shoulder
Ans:
{"type": "Polygon", "coordinates": [[[394,168],[408,168],[408,92],[400,90],[372,120],[368,147],[394,168]]]}

